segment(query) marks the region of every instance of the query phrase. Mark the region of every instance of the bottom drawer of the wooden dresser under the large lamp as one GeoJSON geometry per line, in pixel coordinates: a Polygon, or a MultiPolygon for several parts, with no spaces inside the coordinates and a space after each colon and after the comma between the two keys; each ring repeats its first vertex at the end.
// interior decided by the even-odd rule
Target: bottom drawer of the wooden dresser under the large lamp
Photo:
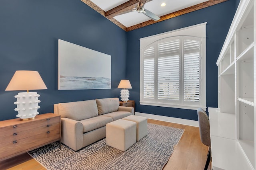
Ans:
{"type": "Polygon", "coordinates": [[[37,135],[12,141],[4,144],[4,147],[0,149],[0,159],[5,156],[10,156],[19,152],[35,149],[51,141],[57,141],[60,139],[60,129],[47,131],[44,133],[38,133],[37,135]]]}

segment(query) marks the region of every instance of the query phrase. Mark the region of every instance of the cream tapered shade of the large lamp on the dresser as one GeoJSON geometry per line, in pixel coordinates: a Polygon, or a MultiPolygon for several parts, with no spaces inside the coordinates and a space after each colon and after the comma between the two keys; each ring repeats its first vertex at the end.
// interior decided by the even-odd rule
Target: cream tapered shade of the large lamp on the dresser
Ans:
{"type": "Polygon", "coordinates": [[[37,71],[18,70],[14,73],[6,91],[47,89],[37,71]]]}

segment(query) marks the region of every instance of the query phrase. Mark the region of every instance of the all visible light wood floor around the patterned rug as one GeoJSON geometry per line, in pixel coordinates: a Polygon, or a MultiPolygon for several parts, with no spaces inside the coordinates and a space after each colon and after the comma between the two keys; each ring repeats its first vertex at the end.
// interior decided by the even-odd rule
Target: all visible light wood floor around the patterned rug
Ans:
{"type": "MultiPolygon", "coordinates": [[[[203,170],[208,147],[200,141],[199,128],[148,119],[148,123],[185,129],[180,142],[163,170],[203,170]]],[[[21,154],[0,162],[0,170],[45,170],[29,154],[21,154]]]]}

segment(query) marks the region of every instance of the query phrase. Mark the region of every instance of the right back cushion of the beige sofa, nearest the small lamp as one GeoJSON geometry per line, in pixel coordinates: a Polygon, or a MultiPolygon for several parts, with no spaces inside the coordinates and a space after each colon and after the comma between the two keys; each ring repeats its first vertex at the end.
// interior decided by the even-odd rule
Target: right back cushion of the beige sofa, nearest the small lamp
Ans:
{"type": "Polygon", "coordinates": [[[99,115],[110,113],[118,110],[118,98],[96,99],[99,115]]]}

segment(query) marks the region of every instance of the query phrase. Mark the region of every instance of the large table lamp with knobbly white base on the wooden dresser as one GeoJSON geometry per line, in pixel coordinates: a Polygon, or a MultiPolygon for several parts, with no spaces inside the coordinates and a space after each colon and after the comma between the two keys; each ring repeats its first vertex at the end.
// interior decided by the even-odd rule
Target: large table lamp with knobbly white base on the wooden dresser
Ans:
{"type": "Polygon", "coordinates": [[[27,92],[20,92],[18,95],[14,96],[17,98],[17,105],[15,111],[18,111],[16,117],[20,117],[20,120],[34,119],[38,115],[37,109],[40,108],[38,100],[40,96],[36,92],[28,92],[28,90],[40,90],[47,89],[44,81],[42,80],[40,74],[37,71],[16,71],[8,84],[6,91],[11,90],[27,90],[27,92]]]}

